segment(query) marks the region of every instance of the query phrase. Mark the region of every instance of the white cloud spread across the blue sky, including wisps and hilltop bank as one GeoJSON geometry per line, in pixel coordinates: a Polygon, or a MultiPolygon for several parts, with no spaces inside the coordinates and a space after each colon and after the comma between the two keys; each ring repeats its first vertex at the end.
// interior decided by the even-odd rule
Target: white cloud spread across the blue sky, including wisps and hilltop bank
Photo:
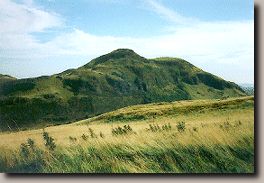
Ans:
{"type": "MultiPolygon", "coordinates": [[[[147,58],[182,57],[227,80],[253,82],[253,20],[197,21],[181,16],[157,1],[147,2],[156,13],[175,24],[186,20],[192,23],[172,26],[165,35],[148,38],[97,36],[75,29],[40,43],[29,33],[60,26],[63,21],[59,16],[35,7],[34,3],[27,6],[3,0],[0,2],[0,59],[44,61],[56,57],[69,61],[67,58],[76,56],[89,60],[117,48],[131,48],[147,58]]],[[[75,60],[75,63],[80,66],[78,63],[83,64],[83,60],[75,60]]]]}

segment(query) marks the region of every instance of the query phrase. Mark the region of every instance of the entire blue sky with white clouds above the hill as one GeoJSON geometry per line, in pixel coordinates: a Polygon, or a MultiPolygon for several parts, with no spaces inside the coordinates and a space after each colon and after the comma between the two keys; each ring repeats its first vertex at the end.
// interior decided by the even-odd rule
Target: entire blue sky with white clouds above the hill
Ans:
{"type": "Polygon", "coordinates": [[[254,82],[253,0],[0,0],[0,73],[37,77],[118,48],[254,82]]]}

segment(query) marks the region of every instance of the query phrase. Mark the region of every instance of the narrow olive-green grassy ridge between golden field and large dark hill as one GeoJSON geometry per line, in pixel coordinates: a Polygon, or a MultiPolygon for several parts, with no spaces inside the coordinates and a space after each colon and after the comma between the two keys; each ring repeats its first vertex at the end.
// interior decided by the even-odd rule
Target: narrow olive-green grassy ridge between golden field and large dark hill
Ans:
{"type": "Polygon", "coordinates": [[[106,122],[116,121],[131,121],[148,119],[164,115],[179,115],[190,112],[208,112],[210,110],[217,109],[240,109],[252,106],[254,97],[239,97],[232,99],[207,99],[207,100],[186,100],[176,102],[161,102],[153,104],[135,105],[122,109],[118,109],[113,112],[108,112],[88,120],[82,120],[76,124],[89,123],[91,121],[103,120],[106,122]]]}

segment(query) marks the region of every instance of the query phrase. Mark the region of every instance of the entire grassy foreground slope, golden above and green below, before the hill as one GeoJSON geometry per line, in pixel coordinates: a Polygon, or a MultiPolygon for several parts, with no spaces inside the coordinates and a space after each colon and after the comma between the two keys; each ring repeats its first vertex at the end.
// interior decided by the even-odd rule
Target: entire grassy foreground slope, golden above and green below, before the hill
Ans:
{"type": "Polygon", "coordinates": [[[254,172],[254,97],[131,106],[45,132],[56,147],[43,130],[1,133],[0,170],[254,172]]]}

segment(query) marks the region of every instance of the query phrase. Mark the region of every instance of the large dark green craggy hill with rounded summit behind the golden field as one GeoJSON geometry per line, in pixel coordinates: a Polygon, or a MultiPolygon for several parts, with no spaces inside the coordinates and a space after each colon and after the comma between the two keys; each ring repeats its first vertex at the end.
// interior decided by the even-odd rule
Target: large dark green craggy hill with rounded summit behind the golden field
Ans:
{"type": "Polygon", "coordinates": [[[244,95],[235,83],[183,59],[118,49],[78,69],[0,83],[0,128],[68,123],[135,104],[244,95]]]}

